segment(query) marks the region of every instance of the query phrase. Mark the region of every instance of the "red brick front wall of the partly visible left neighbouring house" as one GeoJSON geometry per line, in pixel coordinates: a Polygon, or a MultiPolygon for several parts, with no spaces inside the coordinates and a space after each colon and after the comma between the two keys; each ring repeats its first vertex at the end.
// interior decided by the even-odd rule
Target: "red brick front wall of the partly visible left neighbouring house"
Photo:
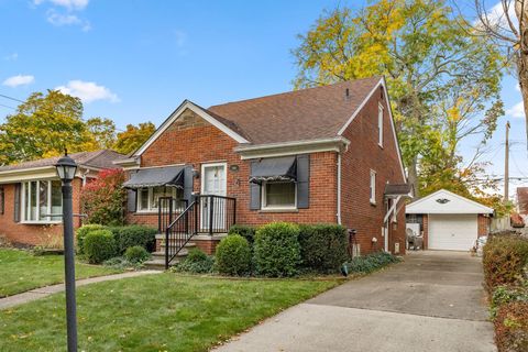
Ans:
{"type": "MultiPolygon", "coordinates": [[[[30,245],[63,245],[62,224],[24,224],[14,222],[14,184],[0,185],[4,189],[4,212],[0,215],[0,234],[8,241],[16,244],[30,245]]],[[[82,182],[79,178],[73,182],[74,213],[80,213],[80,189],[82,182]]],[[[80,219],[74,218],[74,227],[80,226],[80,219]]]]}

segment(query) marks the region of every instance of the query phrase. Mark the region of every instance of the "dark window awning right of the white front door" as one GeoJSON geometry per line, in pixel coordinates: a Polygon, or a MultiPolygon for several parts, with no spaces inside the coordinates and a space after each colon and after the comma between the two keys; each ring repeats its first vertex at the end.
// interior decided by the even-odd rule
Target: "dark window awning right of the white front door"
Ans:
{"type": "Polygon", "coordinates": [[[295,156],[270,157],[254,162],[251,167],[250,183],[261,184],[268,180],[297,180],[297,158],[295,156]]]}

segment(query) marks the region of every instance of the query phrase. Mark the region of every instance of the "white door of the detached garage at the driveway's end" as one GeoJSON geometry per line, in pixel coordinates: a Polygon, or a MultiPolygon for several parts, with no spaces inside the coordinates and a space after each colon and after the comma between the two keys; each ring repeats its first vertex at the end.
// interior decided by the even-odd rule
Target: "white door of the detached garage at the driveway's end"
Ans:
{"type": "Polygon", "coordinates": [[[430,215],[429,249],[469,251],[479,233],[476,215],[430,215]]]}

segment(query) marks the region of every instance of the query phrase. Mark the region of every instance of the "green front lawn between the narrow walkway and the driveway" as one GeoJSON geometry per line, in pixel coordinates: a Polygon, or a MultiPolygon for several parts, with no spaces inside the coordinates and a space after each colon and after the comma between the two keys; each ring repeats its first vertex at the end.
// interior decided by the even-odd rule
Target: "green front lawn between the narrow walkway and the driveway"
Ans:
{"type": "MultiPolygon", "coordinates": [[[[79,351],[207,351],[340,282],[163,273],[84,286],[79,351]]],[[[0,310],[0,350],[65,351],[64,305],[57,294],[0,310]]]]}

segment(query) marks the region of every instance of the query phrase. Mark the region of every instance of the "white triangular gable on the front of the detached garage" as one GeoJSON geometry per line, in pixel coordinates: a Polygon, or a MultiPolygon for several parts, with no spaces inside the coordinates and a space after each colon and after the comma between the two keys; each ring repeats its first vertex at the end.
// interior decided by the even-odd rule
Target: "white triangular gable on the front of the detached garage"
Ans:
{"type": "Polygon", "coordinates": [[[440,189],[406,207],[406,213],[493,213],[493,209],[474,200],[440,189]]]}

